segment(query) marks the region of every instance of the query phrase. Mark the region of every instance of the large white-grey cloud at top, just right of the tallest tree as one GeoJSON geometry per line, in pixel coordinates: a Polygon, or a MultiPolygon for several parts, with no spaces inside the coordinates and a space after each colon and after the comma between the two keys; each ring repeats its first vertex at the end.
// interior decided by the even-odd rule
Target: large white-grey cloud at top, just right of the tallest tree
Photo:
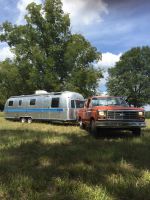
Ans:
{"type": "Polygon", "coordinates": [[[63,10],[70,14],[71,24],[78,28],[102,21],[102,15],[108,13],[103,0],[62,0],[63,10]]]}

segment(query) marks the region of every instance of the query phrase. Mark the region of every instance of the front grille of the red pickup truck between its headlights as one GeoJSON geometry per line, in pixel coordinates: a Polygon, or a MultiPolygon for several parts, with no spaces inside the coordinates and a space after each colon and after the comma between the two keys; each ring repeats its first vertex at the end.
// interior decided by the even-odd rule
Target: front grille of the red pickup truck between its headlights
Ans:
{"type": "Polygon", "coordinates": [[[112,120],[133,120],[139,119],[137,111],[108,111],[107,118],[112,120]]]}

